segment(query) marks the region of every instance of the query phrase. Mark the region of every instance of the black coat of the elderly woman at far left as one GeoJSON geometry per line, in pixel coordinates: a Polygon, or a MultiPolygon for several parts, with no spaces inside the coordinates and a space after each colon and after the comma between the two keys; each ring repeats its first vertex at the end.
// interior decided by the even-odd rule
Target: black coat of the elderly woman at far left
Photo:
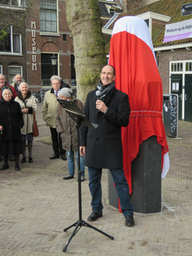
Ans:
{"type": "Polygon", "coordinates": [[[8,105],[4,99],[0,101],[0,125],[3,126],[3,142],[21,139],[20,128],[23,127],[24,122],[18,102],[12,99],[8,105]]]}

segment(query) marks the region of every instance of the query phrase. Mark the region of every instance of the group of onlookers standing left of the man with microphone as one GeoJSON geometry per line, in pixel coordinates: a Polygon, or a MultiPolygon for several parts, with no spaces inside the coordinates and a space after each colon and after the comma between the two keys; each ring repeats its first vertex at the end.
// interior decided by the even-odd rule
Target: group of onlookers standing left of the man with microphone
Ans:
{"type": "MultiPolygon", "coordinates": [[[[67,160],[69,174],[63,179],[70,179],[73,178],[75,172],[74,153],[78,163],[78,137],[75,122],[61,108],[57,98],[60,97],[61,99],[69,99],[76,102],[82,111],[84,105],[73,97],[71,87],[58,76],[52,76],[50,83],[52,89],[45,93],[42,108],[43,119],[49,127],[54,150],[54,154],[49,159],[54,160],[61,156],[62,160],[67,160]]],[[[7,83],[4,75],[0,74],[0,88],[0,160],[4,160],[0,170],[8,169],[8,160],[14,157],[15,171],[20,171],[19,155],[22,154],[21,163],[26,163],[26,145],[28,148],[28,161],[29,163],[33,162],[32,128],[33,113],[37,111],[37,102],[35,97],[32,96],[28,84],[20,74],[15,75],[11,85],[7,83]],[[18,125],[20,129],[18,129],[18,125]],[[15,126],[17,126],[17,129],[15,126]]],[[[82,171],[81,181],[84,181],[84,156],[80,156],[80,166],[82,171]]]]}

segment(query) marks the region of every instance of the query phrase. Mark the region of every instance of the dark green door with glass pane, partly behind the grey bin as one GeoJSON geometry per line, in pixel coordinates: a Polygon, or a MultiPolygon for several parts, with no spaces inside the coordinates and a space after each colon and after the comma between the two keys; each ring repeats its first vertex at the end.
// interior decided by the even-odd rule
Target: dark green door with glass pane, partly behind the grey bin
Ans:
{"type": "Polygon", "coordinates": [[[178,96],[178,119],[182,120],[182,74],[172,74],[171,76],[171,94],[178,96]]]}

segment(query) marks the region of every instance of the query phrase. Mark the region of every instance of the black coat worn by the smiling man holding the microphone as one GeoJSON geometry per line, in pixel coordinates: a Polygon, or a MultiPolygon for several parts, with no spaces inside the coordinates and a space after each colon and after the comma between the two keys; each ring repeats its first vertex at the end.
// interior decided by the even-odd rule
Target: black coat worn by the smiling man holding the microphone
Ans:
{"type": "Polygon", "coordinates": [[[108,104],[107,113],[96,109],[96,90],[88,93],[84,114],[90,123],[98,127],[80,128],[80,146],[85,146],[85,166],[93,168],[123,168],[121,126],[129,124],[130,105],[127,94],[115,89],[108,104]]]}

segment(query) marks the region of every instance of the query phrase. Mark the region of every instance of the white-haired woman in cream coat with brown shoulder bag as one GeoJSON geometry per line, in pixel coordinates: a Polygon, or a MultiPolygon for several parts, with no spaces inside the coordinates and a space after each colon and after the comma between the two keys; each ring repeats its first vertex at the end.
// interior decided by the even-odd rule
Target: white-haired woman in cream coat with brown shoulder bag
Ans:
{"type": "Polygon", "coordinates": [[[33,111],[37,110],[37,103],[35,97],[32,96],[28,84],[21,83],[18,96],[15,102],[20,103],[20,108],[23,113],[24,126],[21,129],[21,141],[23,148],[23,158],[21,163],[26,162],[26,142],[28,143],[29,162],[32,163],[32,126],[33,126],[33,111]]]}

